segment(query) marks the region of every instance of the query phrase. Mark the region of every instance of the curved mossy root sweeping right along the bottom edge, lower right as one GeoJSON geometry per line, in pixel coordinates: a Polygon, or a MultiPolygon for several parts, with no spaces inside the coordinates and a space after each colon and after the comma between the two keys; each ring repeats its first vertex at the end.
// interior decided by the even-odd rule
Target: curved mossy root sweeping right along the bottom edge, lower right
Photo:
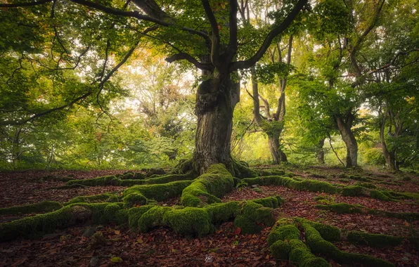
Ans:
{"type": "Polygon", "coordinates": [[[307,245],[309,245],[311,250],[315,253],[328,256],[330,259],[333,259],[338,263],[351,265],[362,264],[364,266],[394,266],[388,261],[376,259],[365,254],[342,252],[337,249],[335,245],[324,240],[318,230],[316,230],[314,227],[311,227],[308,223],[303,223],[303,227],[306,231],[307,245]]]}

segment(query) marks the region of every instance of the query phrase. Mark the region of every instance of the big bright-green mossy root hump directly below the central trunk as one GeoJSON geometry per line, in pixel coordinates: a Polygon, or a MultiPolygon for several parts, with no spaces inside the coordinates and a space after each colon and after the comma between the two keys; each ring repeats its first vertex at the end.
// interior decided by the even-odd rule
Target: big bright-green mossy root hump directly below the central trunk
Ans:
{"type": "Polygon", "coordinates": [[[183,190],[181,203],[186,207],[202,207],[221,202],[219,197],[233,190],[233,186],[233,176],[224,165],[213,164],[183,190]]]}

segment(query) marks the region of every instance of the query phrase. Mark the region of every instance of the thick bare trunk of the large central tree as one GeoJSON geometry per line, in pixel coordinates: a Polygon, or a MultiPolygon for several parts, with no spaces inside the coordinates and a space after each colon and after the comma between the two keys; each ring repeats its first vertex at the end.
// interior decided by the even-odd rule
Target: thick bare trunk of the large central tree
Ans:
{"type": "Polygon", "coordinates": [[[197,91],[198,127],[193,163],[200,174],[211,164],[231,163],[233,110],[239,100],[240,85],[228,76],[224,79],[220,76],[205,80],[197,91]]]}

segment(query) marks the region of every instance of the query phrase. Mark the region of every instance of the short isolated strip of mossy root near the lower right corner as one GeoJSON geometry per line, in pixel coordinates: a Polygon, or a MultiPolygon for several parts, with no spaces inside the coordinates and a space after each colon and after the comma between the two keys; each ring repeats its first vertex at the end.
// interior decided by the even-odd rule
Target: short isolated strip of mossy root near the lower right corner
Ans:
{"type": "Polygon", "coordinates": [[[399,245],[404,238],[391,235],[349,231],[347,234],[347,240],[355,244],[368,245],[370,247],[387,247],[399,245]]]}

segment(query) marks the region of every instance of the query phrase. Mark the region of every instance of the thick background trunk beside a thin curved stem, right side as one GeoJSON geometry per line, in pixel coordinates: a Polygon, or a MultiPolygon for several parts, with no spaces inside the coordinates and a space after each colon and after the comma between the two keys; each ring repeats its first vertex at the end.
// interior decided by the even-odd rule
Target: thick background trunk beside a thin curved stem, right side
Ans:
{"type": "Polygon", "coordinates": [[[356,138],[352,133],[352,120],[353,115],[348,115],[347,122],[344,122],[341,117],[336,117],[337,129],[339,129],[342,140],[347,146],[346,167],[358,166],[358,143],[356,143],[356,138]]]}

